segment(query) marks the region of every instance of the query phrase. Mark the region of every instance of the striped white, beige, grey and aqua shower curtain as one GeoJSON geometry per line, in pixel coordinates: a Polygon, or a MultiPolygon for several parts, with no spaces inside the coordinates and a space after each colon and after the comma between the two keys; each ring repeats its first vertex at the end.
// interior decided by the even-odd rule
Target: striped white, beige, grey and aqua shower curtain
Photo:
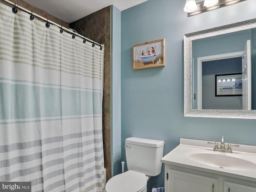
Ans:
{"type": "Polygon", "coordinates": [[[104,48],[0,3],[0,182],[102,192],[104,48]]]}

